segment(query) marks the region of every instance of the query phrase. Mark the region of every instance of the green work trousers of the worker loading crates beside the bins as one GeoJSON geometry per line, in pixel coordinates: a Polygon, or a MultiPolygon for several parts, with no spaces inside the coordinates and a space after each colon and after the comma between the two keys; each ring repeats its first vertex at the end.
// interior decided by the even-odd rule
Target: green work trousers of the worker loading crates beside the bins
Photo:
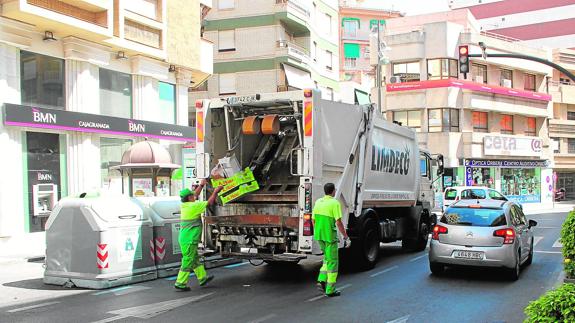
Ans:
{"type": "Polygon", "coordinates": [[[193,270],[196,278],[200,283],[204,282],[207,278],[206,269],[200,263],[200,256],[198,254],[198,244],[202,237],[202,227],[195,226],[191,228],[182,227],[180,230],[180,249],[182,250],[182,266],[176,279],[177,287],[186,287],[190,278],[190,272],[193,270]]]}

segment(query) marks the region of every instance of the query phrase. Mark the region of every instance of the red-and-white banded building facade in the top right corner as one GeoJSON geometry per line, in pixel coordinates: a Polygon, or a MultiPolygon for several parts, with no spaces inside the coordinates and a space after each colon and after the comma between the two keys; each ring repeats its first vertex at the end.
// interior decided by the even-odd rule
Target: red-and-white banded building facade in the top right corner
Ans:
{"type": "Polygon", "coordinates": [[[530,46],[575,49],[575,0],[450,0],[449,6],[469,9],[482,31],[530,46]]]}

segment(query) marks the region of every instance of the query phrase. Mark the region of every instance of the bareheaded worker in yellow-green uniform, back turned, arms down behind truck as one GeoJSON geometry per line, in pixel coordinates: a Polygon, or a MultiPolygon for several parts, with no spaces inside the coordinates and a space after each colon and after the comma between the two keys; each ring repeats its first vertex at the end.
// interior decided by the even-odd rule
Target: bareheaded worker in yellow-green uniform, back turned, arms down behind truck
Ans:
{"type": "Polygon", "coordinates": [[[313,237],[323,251],[323,264],[319,270],[317,286],[326,296],[334,297],[341,295],[340,291],[335,289],[339,265],[336,227],[345,239],[345,247],[351,245],[351,240],[341,222],[341,205],[334,198],[335,185],[327,183],[323,191],[325,196],[315,201],[312,213],[313,237]]]}

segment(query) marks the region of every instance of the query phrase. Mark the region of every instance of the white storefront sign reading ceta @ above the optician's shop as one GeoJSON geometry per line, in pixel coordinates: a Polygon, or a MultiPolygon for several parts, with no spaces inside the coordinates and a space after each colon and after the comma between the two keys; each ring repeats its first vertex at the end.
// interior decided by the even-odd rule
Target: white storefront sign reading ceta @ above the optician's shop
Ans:
{"type": "Polygon", "coordinates": [[[538,138],[508,136],[483,137],[483,153],[493,156],[541,156],[543,143],[538,138]]]}

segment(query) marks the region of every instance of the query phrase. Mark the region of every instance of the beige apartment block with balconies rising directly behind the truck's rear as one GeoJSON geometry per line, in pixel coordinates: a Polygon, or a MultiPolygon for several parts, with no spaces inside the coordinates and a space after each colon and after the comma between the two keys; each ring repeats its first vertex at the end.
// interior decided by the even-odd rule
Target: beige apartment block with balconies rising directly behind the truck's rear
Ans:
{"type": "Polygon", "coordinates": [[[317,87],[337,100],[337,26],[337,0],[214,0],[204,25],[214,43],[214,75],[190,97],[317,87]]]}

